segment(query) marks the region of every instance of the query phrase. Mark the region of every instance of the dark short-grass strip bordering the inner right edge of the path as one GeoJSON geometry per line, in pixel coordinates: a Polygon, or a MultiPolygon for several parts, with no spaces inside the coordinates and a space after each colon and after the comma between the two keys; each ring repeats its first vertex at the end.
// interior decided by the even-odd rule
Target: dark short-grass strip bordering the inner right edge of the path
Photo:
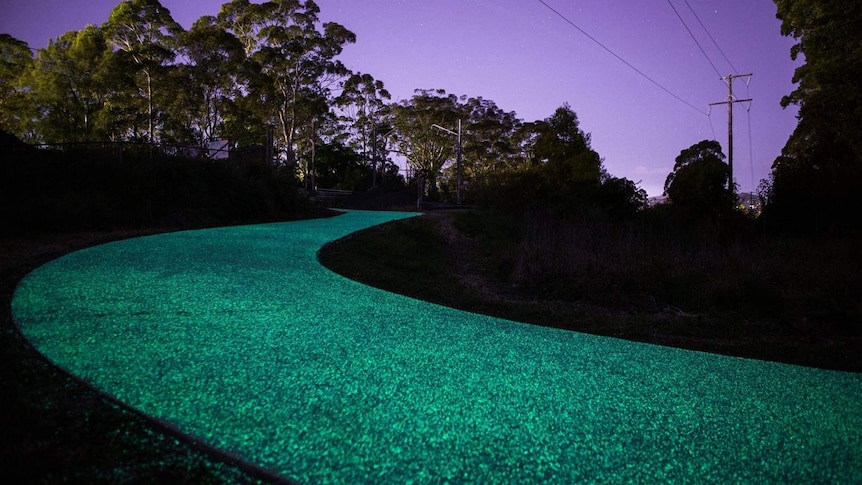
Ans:
{"type": "MultiPolygon", "coordinates": [[[[460,217],[460,216],[458,216],[460,217]]],[[[770,319],[692,314],[553,297],[501,277],[507,248],[458,229],[451,214],[426,214],[367,229],[318,253],[331,270],[363,283],[462,310],[538,325],[724,355],[862,372],[859,335],[790,331],[770,319]]],[[[733,313],[733,312],[731,312],[733,313]]]]}

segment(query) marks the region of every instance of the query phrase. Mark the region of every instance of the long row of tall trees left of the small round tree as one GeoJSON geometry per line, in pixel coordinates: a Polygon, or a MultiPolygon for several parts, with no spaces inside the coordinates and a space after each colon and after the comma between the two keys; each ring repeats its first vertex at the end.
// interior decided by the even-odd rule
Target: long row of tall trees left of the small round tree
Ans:
{"type": "Polygon", "coordinates": [[[381,81],[338,60],[356,36],[319,12],[311,0],[232,0],[185,31],[157,0],[128,0],[35,56],[0,37],[0,129],[43,144],[272,143],[309,190],[397,188],[406,175],[420,199],[463,193],[475,203],[511,179],[539,177],[555,204],[599,198],[620,212],[645,202],[633,182],[604,173],[568,105],[526,123],[442,90],[389,103],[381,81]]]}

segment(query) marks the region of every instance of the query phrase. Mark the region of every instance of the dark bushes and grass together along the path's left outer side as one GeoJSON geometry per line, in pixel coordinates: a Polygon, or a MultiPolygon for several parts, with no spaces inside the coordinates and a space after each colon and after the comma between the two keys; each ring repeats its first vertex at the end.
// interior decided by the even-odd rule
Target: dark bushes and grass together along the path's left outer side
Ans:
{"type": "Polygon", "coordinates": [[[0,132],[0,462],[9,483],[271,483],[89,388],[39,355],[11,314],[18,282],[96,244],[166,231],[333,215],[278,167],[150,147],[37,150],[0,132]]]}

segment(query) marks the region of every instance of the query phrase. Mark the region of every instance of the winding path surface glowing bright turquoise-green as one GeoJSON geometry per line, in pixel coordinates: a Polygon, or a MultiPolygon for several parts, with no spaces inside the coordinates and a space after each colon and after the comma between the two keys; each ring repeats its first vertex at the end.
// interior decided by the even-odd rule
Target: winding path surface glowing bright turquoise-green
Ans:
{"type": "Polygon", "coordinates": [[[474,315],[321,267],[408,214],[181,232],[79,251],[13,301],[54,362],[309,483],[851,483],[862,375],[474,315]]]}

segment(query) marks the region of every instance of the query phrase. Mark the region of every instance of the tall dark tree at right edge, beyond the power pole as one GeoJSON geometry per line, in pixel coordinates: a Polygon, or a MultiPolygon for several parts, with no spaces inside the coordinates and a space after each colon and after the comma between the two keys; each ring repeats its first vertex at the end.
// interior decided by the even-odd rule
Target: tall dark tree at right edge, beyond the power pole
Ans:
{"type": "Polygon", "coordinates": [[[781,33],[804,57],[796,89],[782,105],[799,106],[799,123],[764,184],[765,216],[778,227],[858,231],[862,183],[862,4],[776,0],[781,33]]]}

